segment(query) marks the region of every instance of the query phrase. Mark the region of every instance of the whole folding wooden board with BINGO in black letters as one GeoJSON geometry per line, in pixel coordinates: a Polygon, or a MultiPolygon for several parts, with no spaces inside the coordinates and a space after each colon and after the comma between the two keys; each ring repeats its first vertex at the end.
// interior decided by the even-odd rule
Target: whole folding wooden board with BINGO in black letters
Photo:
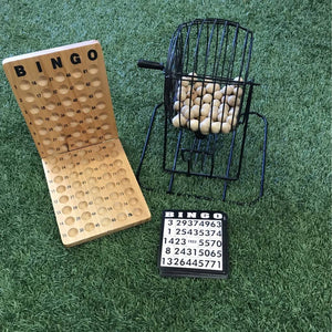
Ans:
{"type": "Polygon", "coordinates": [[[4,59],[66,247],[151,218],[117,135],[98,41],[4,59]]]}

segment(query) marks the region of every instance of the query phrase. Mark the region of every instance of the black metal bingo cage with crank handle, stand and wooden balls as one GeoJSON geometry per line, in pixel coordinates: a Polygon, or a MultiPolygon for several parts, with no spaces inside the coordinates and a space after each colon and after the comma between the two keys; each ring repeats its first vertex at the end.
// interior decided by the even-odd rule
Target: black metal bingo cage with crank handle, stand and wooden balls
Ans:
{"type": "Polygon", "coordinates": [[[253,87],[258,85],[249,79],[252,41],[252,32],[239,23],[197,19],[176,29],[165,65],[138,61],[139,68],[160,70],[165,75],[164,103],[157,104],[152,114],[136,173],[143,187],[154,189],[166,180],[167,193],[226,200],[228,187],[240,179],[246,164],[248,185],[241,198],[237,191],[243,186],[237,186],[234,201],[253,203],[263,195],[268,125],[264,116],[250,111],[253,87]],[[165,112],[159,114],[163,105],[165,112]],[[255,117],[250,135],[249,117],[250,122],[255,117]],[[249,159],[243,163],[248,139],[249,159]],[[157,159],[164,172],[153,184],[144,168],[157,172],[157,165],[147,164],[153,159],[149,154],[160,153],[160,144],[163,158],[157,159]]]}

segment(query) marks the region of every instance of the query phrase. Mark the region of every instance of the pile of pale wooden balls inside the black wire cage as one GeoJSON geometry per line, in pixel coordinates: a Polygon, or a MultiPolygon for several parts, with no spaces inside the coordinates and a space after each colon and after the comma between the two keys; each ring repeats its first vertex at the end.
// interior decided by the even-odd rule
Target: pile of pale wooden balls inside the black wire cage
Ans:
{"type": "MultiPolygon", "coordinates": [[[[196,73],[190,73],[178,82],[173,105],[177,114],[172,120],[173,125],[199,131],[204,135],[228,134],[238,123],[242,87],[240,84],[221,87],[210,79],[201,82],[196,76],[196,73]]],[[[234,82],[243,82],[243,79],[236,77],[234,82]]]]}

